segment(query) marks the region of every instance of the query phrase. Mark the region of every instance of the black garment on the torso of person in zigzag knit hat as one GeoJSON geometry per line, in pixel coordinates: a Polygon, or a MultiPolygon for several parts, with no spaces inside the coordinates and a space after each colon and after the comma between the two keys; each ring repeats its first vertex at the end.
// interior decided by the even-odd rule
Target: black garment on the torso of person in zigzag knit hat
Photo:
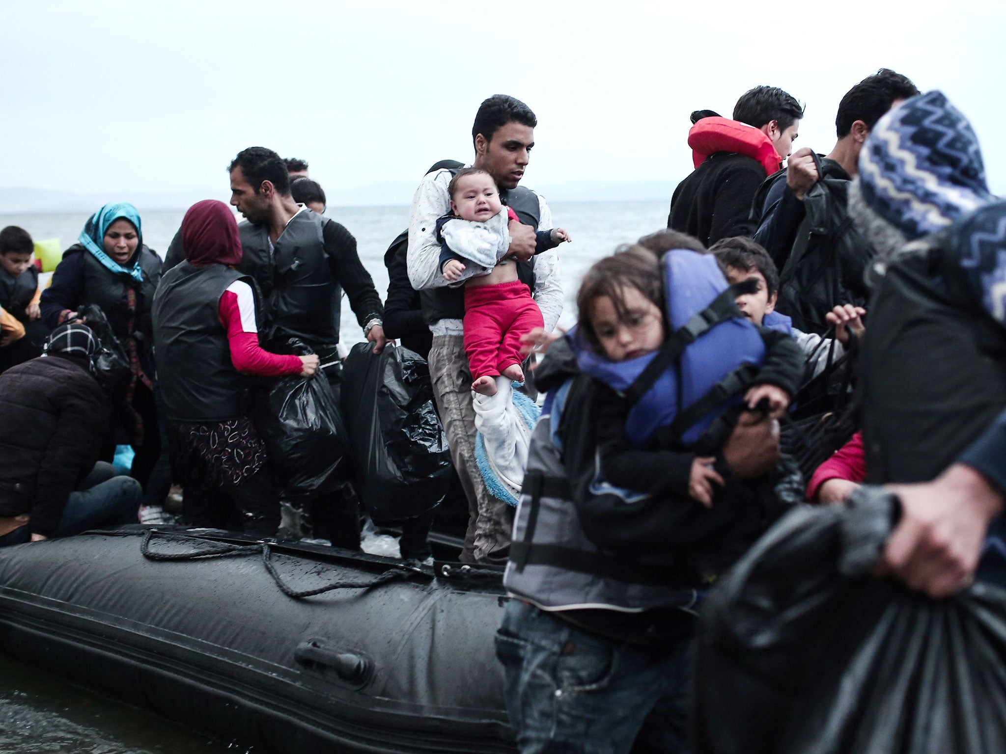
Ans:
{"type": "Polygon", "coordinates": [[[967,290],[950,230],[887,266],[861,359],[870,483],[935,479],[1006,409],[1006,329],[967,290]]]}

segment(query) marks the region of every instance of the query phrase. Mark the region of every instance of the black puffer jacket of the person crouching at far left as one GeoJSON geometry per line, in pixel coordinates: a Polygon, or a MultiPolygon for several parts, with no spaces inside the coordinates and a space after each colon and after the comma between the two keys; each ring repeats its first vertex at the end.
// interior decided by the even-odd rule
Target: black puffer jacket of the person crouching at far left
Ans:
{"type": "Polygon", "coordinates": [[[82,361],[44,356],[0,375],[0,517],[28,513],[31,533],[51,536],[99,458],[108,420],[82,361]]]}

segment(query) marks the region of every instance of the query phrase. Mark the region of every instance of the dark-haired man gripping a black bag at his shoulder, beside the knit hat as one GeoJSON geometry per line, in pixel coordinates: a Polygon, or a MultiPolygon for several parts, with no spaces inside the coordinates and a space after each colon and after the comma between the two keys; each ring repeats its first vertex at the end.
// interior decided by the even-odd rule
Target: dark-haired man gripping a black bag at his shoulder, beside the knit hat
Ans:
{"type": "Polygon", "coordinates": [[[876,122],[917,93],[910,80],[888,68],[867,76],[838,106],[834,149],[825,157],[807,147],[798,150],[754,197],[754,239],[782,270],[779,310],[801,330],[823,334],[825,312],[867,301],[863,270],[873,252],[848,220],[848,185],[876,122]]]}

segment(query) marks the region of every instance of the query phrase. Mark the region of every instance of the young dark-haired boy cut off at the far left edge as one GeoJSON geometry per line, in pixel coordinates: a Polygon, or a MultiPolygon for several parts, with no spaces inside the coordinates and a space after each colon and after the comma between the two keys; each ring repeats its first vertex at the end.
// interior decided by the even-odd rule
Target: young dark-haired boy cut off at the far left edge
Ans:
{"type": "Polygon", "coordinates": [[[42,353],[48,328],[41,322],[38,268],[31,263],[35,244],[23,228],[8,225],[0,230],[0,309],[6,324],[0,326],[0,372],[42,353]],[[7,333],[10,335],[7,335],[7,333]]]}

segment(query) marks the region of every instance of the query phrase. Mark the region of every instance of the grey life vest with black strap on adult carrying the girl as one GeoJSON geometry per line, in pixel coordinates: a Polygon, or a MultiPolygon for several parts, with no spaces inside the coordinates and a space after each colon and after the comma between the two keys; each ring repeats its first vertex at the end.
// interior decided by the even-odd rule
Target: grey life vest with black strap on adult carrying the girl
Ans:
{"type": "Polygon", "coordinates": [[[572,382],[558,389],[531,434],[503,585],[543,610],[691,606],[696,592],[676,583],[676,569],[603,552],[583,533],[555,434],[572,382]]]}

